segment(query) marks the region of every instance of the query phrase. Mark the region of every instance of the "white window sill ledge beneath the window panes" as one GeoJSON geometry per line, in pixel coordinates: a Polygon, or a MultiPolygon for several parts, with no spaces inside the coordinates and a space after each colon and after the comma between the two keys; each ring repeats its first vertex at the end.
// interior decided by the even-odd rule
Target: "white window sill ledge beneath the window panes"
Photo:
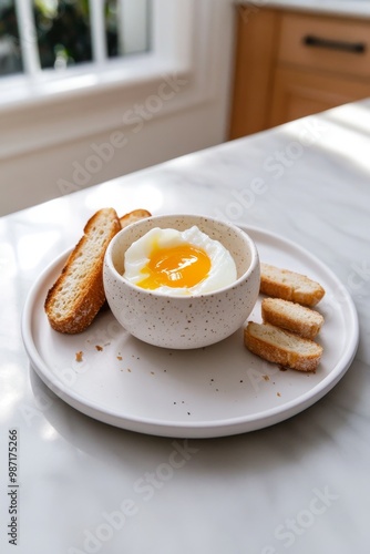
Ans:
{"type": "Polygon", "coordinates": [[[193,71],[151,63],[133,72],[85,74],[38,84],[0,109],[0,160],[137,126],[204,102],[207,91],[193,71]]]}

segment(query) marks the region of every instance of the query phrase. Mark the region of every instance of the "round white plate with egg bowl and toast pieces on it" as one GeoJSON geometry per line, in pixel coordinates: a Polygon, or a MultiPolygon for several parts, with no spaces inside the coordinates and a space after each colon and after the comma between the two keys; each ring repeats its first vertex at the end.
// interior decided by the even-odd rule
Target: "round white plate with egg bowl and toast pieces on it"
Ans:
{"type": "MultiPolygon", "coordinates": [[[[269,237],[255,233],[202,215],[96,211],[29,294],[22,332],[35,371],[83,413],[164,437],[237,434],[304,410],[348,366],[333,371],[326,356],[336,321],[325,325],[315,265],[306,260],[308,276],[265,263],[269,237]],[[106,328],[113,337],[93,345],[106,328]],[[256,372],[269,388],[257,390],[256,372]]],[[[341,312],[351,309],[348,297],[341,312]]]]}

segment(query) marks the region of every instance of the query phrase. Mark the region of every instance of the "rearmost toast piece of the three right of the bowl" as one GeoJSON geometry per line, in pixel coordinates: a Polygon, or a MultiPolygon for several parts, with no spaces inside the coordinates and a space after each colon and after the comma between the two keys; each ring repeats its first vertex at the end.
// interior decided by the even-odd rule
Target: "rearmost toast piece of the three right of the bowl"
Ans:
{"type": "Polygon", "coordinates": [[[306,275],[261,263],[260,293],[312,307],[321,300],[325,289],[306,275]]]}

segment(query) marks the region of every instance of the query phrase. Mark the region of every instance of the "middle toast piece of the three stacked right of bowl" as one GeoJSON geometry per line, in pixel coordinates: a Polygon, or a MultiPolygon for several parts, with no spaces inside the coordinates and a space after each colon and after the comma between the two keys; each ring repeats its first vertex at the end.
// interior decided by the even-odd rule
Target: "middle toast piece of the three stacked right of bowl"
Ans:
{"type": "Polygon", "coordinates": [[[282,327],[307,339],[314,339],[323,324],[323,317],[318,311],[281,298],[264,298],[261,316],[264,322],[282,327]]]}

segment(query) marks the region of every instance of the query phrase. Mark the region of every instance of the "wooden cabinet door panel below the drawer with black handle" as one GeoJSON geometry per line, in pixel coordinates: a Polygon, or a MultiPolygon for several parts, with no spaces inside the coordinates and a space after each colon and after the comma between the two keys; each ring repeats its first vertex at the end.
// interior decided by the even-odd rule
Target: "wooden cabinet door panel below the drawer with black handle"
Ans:
{"type": "Polygon", "coordinates": [[[277,68],[269,125],[280,125],[370,96],[370,83],[337,75],[277,68]]]}

